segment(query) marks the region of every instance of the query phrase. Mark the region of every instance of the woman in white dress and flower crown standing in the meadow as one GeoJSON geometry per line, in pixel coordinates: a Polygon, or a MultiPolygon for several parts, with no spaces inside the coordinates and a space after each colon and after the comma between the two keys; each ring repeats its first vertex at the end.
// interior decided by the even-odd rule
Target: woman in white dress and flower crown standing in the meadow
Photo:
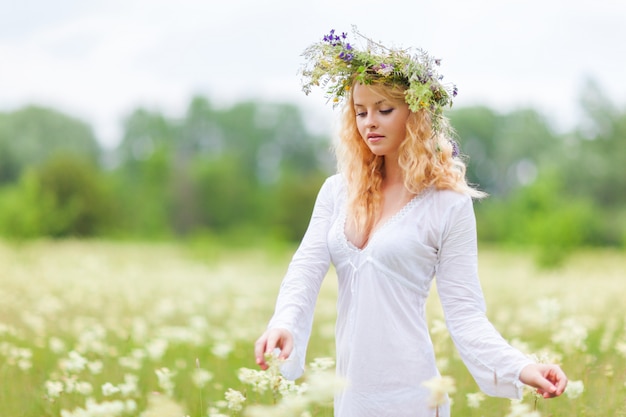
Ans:
{"type": "Polygon", "coordinates": [[[438,375],[425,303],[432,280],[450,335],[481,389],[519,398],[523,384],[563,393],[557,365],[533,363],[493,328],[477,274],[472,197],[443,108],[456,95],[426,53],[363,50],[331,32],[310,47],[305,92],[324,84],[345,101],[339,174],[327,179],[290,263],[256,361],[280,350],[288,378],[304,369],[313,310],[330,263],[339,280],[337,372],[348,388],[339,417],[447,416],[423,383],[438,375]]]}

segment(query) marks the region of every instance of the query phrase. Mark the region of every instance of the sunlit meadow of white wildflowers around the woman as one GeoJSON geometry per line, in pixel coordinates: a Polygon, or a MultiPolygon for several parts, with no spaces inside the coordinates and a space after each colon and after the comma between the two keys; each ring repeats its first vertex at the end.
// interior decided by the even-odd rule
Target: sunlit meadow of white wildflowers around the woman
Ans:
{"type": "MultiPolygon", "coordinates": [[[[332,416],[335,282],[316,310],[305,377],[259,372],[293,248],[0,243],[0,417],[332,416]]],[[[483,249],[488,315],[515,346],[557,362],[570,388],[521,403],[484,397],[428,305],[454,416],[625,416],[626,257],[578,253],[560,269],[483,249]]]]}

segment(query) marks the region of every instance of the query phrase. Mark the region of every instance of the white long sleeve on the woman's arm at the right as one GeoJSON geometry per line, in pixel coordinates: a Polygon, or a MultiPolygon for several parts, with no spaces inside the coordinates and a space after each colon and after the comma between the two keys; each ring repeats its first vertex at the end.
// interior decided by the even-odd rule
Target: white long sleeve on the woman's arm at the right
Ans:
{"type": "Polygon", "coordinates": [[[483,392],[520,398],[519,374],[532,361],[510,346],[486,316],[478,278],[476,220],[469,197],[448,200],[443,216],[437,290],[459,354],[483,392]]]}

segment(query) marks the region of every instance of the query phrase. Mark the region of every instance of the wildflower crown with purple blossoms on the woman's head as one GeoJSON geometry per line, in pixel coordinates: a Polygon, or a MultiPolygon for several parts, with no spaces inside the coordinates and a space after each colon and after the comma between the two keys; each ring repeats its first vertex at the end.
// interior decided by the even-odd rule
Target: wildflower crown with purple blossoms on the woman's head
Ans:
{"type": "Polygon", "coordinates": [[[329,100],[336,104],[347,96],[355,81],[399,85],[405,89],[404,99],[411,111],[428,110],[436,128],[443,109],[452,106],[452,98],[457,94],[454,84],[441,82],[443,76],[436,71],[441,60],[421,49],[412,54],[408,49],[386,48],[361,35],[355,27],[353,31],[367,41],[364,50],[355,49],[347,42],[346,33],[338,35],[333,29],[321,42],[304,51],[304,93],[308,95],[312,87],[322,86],[329,100]]]}

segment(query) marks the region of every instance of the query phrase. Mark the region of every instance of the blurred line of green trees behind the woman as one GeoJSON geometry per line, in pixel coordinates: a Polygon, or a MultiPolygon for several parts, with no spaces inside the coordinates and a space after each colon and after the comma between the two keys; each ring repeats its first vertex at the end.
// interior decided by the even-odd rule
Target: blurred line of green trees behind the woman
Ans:
{"type": "MultiPolygon", "coordinates": [[[[584,117],[555,133],[532,108],[452,109],[483,242],[559,258],[626,244],[626,111],[590,81],[584,117]]],[[[220,108],[195,97],[181,117],[139,108],[103,148],[54,109],[0,113],[0,236],[167,239],[194,234],[297,241],[334,171],[330,138],[289,103],[220,108]]]]}

